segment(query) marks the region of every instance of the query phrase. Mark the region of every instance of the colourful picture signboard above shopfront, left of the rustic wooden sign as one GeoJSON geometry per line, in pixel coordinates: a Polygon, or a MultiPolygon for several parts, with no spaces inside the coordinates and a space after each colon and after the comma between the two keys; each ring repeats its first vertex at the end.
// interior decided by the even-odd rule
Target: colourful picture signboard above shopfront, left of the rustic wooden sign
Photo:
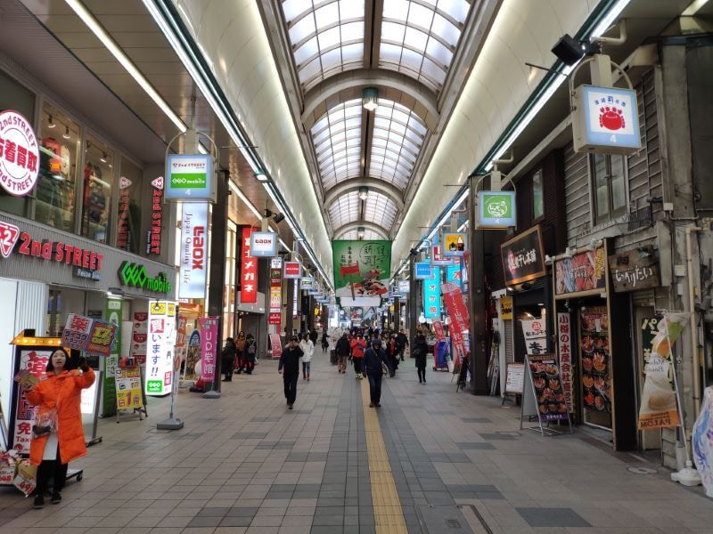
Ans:
{"type": "Polygon", "coordinates": [[[554,262],[554,295],[560,297],[586,291],[603,291],[607,283],[606,274],[604,247],[557,260],[554,262]]]}

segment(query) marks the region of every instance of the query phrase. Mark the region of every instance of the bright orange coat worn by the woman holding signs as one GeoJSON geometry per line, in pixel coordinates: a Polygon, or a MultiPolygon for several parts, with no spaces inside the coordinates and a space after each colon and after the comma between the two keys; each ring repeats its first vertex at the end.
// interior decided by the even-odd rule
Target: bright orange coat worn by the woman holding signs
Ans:
{"type": "MultiPolygon", "coordinates": [[[[89,368],[82,374],[78,370],[64,371],[60,375],[47,373],[31,391],[25,393],[29,404],[38,406],[38,413],[57,409],[57,441],[60,444],[62,464],[86,455],[82,412],[79,407],[82,389],[94,384],[94,371],[89,368]]],[[[29,463],[40,465],[45,454],[48,436],[33,438],[29,442],[29,463]]]]}

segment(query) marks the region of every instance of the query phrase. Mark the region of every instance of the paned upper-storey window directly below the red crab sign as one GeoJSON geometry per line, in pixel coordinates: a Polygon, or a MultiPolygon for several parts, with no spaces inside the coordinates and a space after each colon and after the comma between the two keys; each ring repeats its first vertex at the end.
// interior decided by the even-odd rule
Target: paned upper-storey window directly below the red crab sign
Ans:
{"type": "Polygon", "coordinates": [[[623,156],[593,154],[590,159],[594,185],[594,224],[606,223],[627,213],[627,160],[623,156]]]}

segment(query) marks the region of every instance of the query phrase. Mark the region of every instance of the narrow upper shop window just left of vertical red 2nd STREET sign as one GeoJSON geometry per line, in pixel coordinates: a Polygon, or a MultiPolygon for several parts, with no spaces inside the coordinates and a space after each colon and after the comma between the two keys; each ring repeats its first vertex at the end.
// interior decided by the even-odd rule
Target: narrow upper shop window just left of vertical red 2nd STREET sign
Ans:
{"type": "Polygon", "coordinates": [[[140,254],[143,170],[127,158],[121,158],[119,171],[117,247],[127,252],[140,254]]]}

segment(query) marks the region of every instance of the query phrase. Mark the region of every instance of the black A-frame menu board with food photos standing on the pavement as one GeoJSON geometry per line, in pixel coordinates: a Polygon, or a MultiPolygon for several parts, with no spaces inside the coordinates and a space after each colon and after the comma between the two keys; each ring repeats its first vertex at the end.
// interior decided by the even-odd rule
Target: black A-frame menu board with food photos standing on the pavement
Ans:
{"type": "Polygon", "coordinates": [[[530,378],[540,421],[567,420],[569,409],[562,391],[560,368],[554,354],[528,355],[530,378]]]}

